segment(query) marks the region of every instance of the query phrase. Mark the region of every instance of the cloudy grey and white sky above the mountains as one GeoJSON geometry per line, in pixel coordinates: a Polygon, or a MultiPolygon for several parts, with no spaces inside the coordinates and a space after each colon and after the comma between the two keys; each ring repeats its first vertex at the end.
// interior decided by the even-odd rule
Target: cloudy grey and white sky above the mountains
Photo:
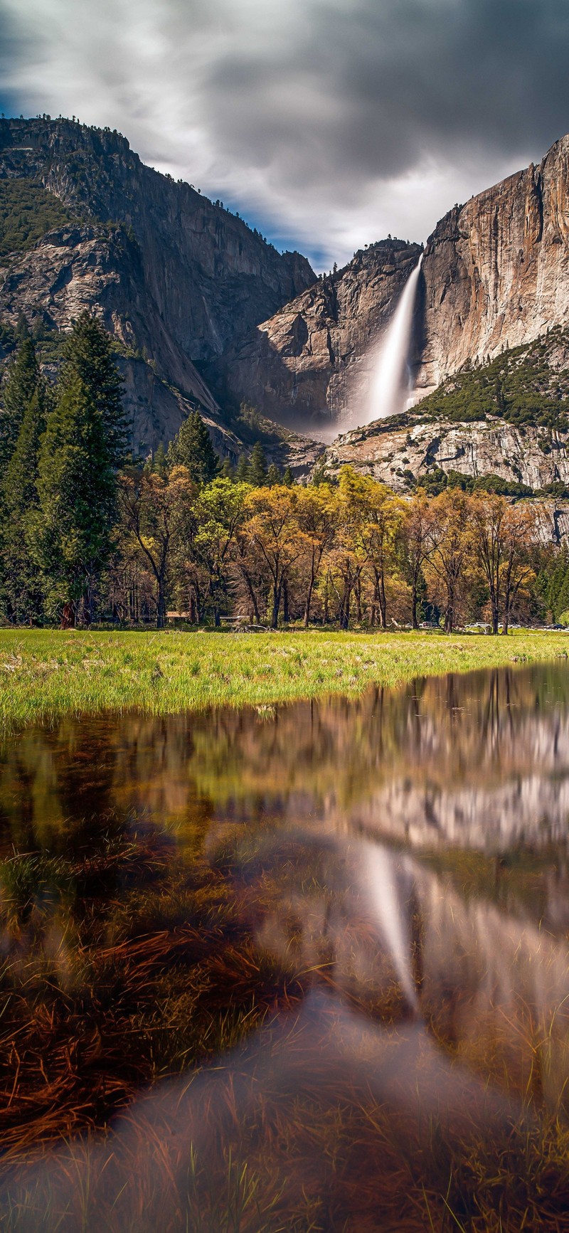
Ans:
{"type": "Polygon", "coordinates": [[[75,115],[318,269],[569,131],[569,0],[0,0],[6,115],[75,115]]]}

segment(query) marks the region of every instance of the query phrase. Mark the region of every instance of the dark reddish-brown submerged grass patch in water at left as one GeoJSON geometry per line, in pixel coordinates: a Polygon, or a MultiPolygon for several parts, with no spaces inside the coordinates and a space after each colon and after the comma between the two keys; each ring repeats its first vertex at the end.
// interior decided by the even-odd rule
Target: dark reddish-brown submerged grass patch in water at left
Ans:
{"type": "Polygon", "coordinates": [[[303,981],[259,951],[222,874],[164,856],[155,835],[0,859],[5,1157],[105,1124],[298,1004],[303,981]]]}

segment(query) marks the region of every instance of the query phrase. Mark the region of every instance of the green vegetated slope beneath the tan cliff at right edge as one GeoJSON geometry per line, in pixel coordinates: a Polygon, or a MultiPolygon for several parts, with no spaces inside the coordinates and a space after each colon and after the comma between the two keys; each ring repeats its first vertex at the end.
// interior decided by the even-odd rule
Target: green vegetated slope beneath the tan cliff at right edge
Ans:
{"type": "Polygon", "coordinates": [[[505,350],[484,365],[466,365],[416,407],[421,420],[475,422],[499,417],[522,428],[569,430],[569,367],[552,363],[569,332],[555,327],[527,346],[505,350]]]}

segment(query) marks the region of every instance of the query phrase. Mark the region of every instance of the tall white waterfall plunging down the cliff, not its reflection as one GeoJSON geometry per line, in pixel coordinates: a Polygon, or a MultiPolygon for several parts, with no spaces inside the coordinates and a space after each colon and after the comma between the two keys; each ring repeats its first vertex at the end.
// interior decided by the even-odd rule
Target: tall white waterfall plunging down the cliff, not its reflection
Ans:
{"type": "Polygon", "coordinates": [[[421,261],[422,254],[405,282],[393,321],[379,344],[363,418],[360,418],[361,424],[395,416],[405,409],[409,399],[411,392],[408,369],[409,344],[421,261]]]}

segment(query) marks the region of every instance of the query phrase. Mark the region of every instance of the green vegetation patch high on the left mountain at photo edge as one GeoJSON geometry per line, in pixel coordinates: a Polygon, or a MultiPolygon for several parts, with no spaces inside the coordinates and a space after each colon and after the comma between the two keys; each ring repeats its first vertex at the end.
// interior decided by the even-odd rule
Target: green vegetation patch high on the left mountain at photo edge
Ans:
{"type": "Polygon", "coordinates": [[[74,215],[38,180],[0,180],[0,258],[21,253],[74,215]]]}

